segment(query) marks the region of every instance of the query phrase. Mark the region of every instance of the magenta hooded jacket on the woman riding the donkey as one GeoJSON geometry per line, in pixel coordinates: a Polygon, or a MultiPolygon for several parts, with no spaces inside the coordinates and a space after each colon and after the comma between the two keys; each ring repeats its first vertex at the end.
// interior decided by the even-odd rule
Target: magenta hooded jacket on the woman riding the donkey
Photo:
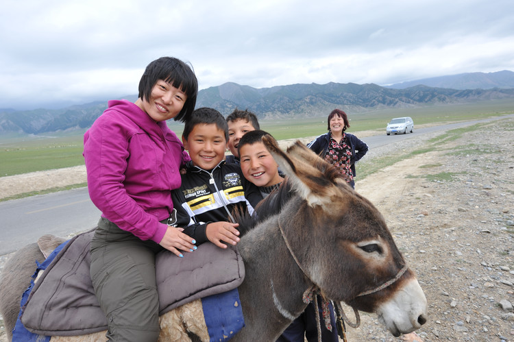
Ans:
{"type": "Polygon", "coordinates": [[[189,158],[165,121],[151,119],[135,103],[109,101],[84,134],[89,196],[102,216],[141,240],[160,243],[189,158]]]}

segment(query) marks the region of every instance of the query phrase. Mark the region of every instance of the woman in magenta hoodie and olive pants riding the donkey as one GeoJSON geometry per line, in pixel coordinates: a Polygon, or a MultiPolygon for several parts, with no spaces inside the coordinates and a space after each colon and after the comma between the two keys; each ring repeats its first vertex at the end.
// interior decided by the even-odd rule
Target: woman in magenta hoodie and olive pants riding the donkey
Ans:
{"type": "Polygon", "coordinates": [[[187,121],[197,92],[188,65],[159,58],[141,77],[136,102],[109,101],[84,134],[88,191],[101,210],[90,274],[109,341],[157,341],[155,254],[196,249],[190,236],[166,224],[171,190],[180,188],[180,167],[190,160],[166,120],[187,121]]]}

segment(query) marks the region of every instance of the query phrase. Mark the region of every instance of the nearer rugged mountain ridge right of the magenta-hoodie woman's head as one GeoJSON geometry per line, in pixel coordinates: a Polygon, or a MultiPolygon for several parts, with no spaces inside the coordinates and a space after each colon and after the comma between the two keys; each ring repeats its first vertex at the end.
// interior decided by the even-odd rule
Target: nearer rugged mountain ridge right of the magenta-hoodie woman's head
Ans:
{"type": "Polygon", "coordinates": [[[291,84],[271,88],[252,88],[235,83],[201,90],[197,107],[209,106],[222,114],[235,108],[248,108],[260,119],[317,117],[342,108],[363,112],[377,108],[405,108],[444,103],[464,103],[482,99],[512,97],[514,89],[443,89],[414,86],[391,89],[376,84],[291,84]]]}

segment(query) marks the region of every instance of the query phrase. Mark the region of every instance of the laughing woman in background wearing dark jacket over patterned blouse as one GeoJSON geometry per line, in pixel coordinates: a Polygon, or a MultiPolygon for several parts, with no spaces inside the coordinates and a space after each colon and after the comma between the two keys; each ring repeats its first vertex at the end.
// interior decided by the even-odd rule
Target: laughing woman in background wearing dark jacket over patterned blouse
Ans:
{"type": "Polygon", "coordinates": [[[307,147],[339,169],[348,184],[355,188],[355,163],[363,158],[368,148],[359,138],[345,130],[350,127],[343,110],[334,109],[328,114],[328,133],[318,136],[307,147]]]}

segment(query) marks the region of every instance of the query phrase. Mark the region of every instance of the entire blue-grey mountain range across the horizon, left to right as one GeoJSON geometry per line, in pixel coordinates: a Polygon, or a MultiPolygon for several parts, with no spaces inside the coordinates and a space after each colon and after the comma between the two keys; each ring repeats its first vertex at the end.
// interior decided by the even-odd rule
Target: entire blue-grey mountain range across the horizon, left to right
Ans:
{"type": "MultiPolygon", "coordinates": [[[[225,116],[235,108],[248,109],[259,119],[278,119],[319,117],[334,108],[358,113],[380,108],[415,108],[512,97],[514,73],[499,71],[435,77],[391,86],[330,82],[252,88],[228,82],[200,90],[196,107],[216,108],[225,116]],[[409,86],[407,83],[416,84],[409,86]],[[452,88],[446,88],[444,85],[447,84],[452,88]],[[477,84],[481,86],[477,88],[477,84]]],[[[137,95],[123,98],[135,101],[137,95]]],[[[84,130],[106,106],[105,101],[95,101],[59,110],[0,110],[0,135],[84,130]]]]}

